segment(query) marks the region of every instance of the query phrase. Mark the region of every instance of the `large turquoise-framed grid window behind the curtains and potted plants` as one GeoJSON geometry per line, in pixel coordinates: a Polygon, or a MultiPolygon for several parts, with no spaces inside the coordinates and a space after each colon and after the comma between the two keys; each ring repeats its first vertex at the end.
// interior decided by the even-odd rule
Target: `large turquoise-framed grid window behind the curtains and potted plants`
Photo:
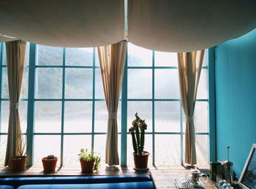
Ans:
{"type": "MultiPolygon", "coordinates": [[[[0,51],[0,165],[4,164],[9,118],[5,45],[0,51]]],[[[135,112],[146,119],[150,164],[183,163],[184,115],[179,99],[176,53],[146,50],[129,43],[118,107],[118,147],[123,165],[132,165],[127,133],[135,112]]],[[[203,61],[195,107],[197,161],[208,163],[208,63],[203,61]]],[[[28,132],[28,153],[34,165],[53,153],[64,166],[78,166],[81,147],[94,148],[105,163],[108,111],[97,48],[29,45],[20,101],[20,120],[28,132]],[[30,50],[29,50],[30,47],[30,50]],[[29,106],[28,106],[29,102],[29,106]],[[31,144],[30,144],[31,143],[31,144]],[[34,149],[34,151],[32,150],[34,149]]]]}

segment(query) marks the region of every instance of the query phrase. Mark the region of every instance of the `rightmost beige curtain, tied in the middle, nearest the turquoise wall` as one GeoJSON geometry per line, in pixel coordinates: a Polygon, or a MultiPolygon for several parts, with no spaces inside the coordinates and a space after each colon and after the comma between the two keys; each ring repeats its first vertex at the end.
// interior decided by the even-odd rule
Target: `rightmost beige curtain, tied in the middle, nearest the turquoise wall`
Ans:
{"type": "Polygon", "coordinates": [[[204,50],[178,53],[178,76],[181,90],[181,104],[186,116],[185,163],[197,163],[195,151],[194,110],[197,86],[203,63],[204,50]]]}

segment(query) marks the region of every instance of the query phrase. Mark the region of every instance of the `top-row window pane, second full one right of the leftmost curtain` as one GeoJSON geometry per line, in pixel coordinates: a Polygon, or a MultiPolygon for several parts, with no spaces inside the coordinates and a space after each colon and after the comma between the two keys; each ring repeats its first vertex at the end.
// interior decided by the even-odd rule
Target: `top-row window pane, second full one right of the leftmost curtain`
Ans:
{"type": "Polygon", "coordinates": [[[93,48],[66,48],[66,65],[92,66],[93,48]]]}

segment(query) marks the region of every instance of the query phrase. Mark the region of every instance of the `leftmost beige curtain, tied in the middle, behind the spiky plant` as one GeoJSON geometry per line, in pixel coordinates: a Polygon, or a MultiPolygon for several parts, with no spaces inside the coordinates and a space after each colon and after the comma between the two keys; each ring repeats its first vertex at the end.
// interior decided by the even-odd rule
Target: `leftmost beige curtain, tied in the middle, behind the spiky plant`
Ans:
{"type": "Polygon", "coordinates": [[[7,153],[4,166],[10,166],[11,158],[22,155],[20,115],[18,111],[20,89],[23,78],[26,42],[22,40],[6,42],[7,74],[10,96],[10,115],[7,138],[7,153]]]}

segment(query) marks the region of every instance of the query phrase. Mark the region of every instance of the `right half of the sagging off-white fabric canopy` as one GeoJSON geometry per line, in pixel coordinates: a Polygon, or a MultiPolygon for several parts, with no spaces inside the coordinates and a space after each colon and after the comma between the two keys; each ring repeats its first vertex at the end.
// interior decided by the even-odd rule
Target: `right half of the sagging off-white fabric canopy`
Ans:
{"type": "Polygon", "coordinates": [[[254,29],[255,10],[255,0],[129,0],[129,42],[168,52],[206,49],[254,29]]]}

